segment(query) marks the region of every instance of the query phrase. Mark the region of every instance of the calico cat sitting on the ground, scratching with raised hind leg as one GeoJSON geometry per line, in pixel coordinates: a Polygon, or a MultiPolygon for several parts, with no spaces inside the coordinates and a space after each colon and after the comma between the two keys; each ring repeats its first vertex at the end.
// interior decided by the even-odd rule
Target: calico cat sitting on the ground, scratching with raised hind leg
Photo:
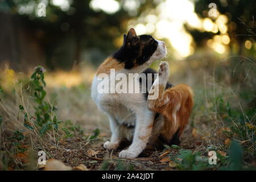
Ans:
{"type": "MultiPolygon", "coordinates": [[[[166,52],[164,42],[151,35],[137,36],[134,28],[131,28],[127,36],[123,36],[123,46],[109,56],[96,72],[92,83],[92,98],[108,114],[112,131],[112,137],[104,143],[104,147],[115,150],[123,139],[132,141],[129,148],[119,153],[119,157],[137,158],[145,148],[179,144],[180,135],[191,114],[193,93],[187,85],[173,86],[167,82],[169,69],[166,61],[160,63],[158,76],[151,77],[152,87],[146,93],[101,93],[98,91],[101,83],[99,78],[111,75],[111,69],[114,69],[115,75],[156,73],[148,66],[166,56],[166,52]],[[148,99],[155,92],[158,97],[148,99]]],[[[112,79],[110,77],[108,81],[112,79]]],[[[139,77],[127,80],[127,84],[131,81],[138,88],[147,86],[139,77]]],[[[109,89],[111,87],[110,84],[109,89]]]]}

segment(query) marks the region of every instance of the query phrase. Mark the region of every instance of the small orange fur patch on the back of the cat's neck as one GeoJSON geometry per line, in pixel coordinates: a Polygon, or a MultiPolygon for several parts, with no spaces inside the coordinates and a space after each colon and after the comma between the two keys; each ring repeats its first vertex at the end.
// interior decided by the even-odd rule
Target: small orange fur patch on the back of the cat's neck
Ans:
{"type": "Polygon", "coordinates": [[[110,69],[115,69],[115,71],[119,71],[125,67],[124,63],[119,63],[116,59],[112,56],[108,57],[98,68],[96,75],[100,73],[110,73],[110,69]]]}

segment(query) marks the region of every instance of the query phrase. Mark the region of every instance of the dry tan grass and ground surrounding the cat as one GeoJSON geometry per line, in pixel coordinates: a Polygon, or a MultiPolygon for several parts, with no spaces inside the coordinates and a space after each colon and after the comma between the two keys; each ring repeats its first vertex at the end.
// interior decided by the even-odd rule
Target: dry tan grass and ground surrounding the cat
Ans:
{"type": "MultiPolygon", "coordinates": [[[[250,89],[255,89],[254,75],[251,72],[245,72],[245,75],[239,73],[238,77],[233,78],[230,76],[230,74],[232,75],[230,70],[233,71],[234,68],[226,67],[227,63],[219,62],[221,65],[216,65],[216,61],[210,60],[212,57],[204,55],[203,58],[208,60],[207,63],[204,63],[198,57],[191,57],[189,58],[190,60],[178,63],[170,62],[170,81],[174,84],[184,82],[192,85],[195,92],[196,103],[191,115],[191,121],[181,137],[181,148],[167,147],[164,151],[143,151],[137,159],[118,158],[118,152],[121,149],[108,151],[102,147],[102,143],[110,137],[110,130],[108,118],[102,111],[97,109],[97,106],[90,98],[92,69],[77,71],[73,75],[64,72],[48,73],[46,75],[47,84],[49,83],[46,100],[57,105],[56,115],[59,116],[61,121],[70,119],[72,123],[77,123],[84,130],[84,133],[74,132],[73,137],[70,138],[65,138],[65,134],[61,130],[58,132],[50,130],[44,137],[40,137],[38,131],[26,129],[23,126],[22,114],[19,114],[19,119],[17,119],[17,116],[19,113],[18,105],[20,104],[25,107],[29,114],[33,115],[34,113],[34,102],[31,97],[28,78],[26,75],[15,74],[10,70],[3,72],[4,74],[0,76],[2,78],[1,88],[5,91],[0,96],[0,115],[3,120],[0,133],[2,136],[0,141],[0,169],[38,169],[36,161],[38,158],[37,152],[40,150],[47,152],[47,159],[60,159],[72,167],[84,164],[92,170],[188,169],[184,168],[184,163],[180,164],[181,167],[176,167],[172,166],[170,161],[179,160],[179,152],[185,150],[192,151],[192,154],[200,152],[203,158],[208,156],[208,151],[210,150],[220,151],[223,152],[222,154],[229,156],[229,139],[235,139],[241,143],[243,147],[243,162],[246,168],[254,168],[255,131],[251,135],[246,125],[245,131],[247,133],[245,135],[247,138],[243,138],[239,133],[230,129],[230,127],[241,129],[240,126],[238,127],[238,118],[230,117],[227,113],[228,111],[225,108],[223,109],[221,104],[217,102],[220,99],[224,100],[225,104],[226,101],[229,101],[233,113],[242,113],[245,121],[251,127],[255,126],[255,110],[251,114],[253,117],[246,115],[246,110],[251,103],[255,103],[255,100],[250,103],[250,101],[242,98],[240,94],[242,86],[246,86],[248,97],[251,96],[250,89]],[[220,70],[223,73],[220,73],[220,70]],[[247,80],[240,82],[245,77],[247,80]],[[73,85],[71,84],[72,81],[70,80],[72,79],[76,80],[76,84],[74,82],[73,85]],[[15,82],[15,80],[22,81],[15,82]],[[228,119],[230,122],[227,122],[228,119]],[[88,135],[92,135],[93,130],[96,128],[100,129],[100,135],[95,139],[88,139],[88,135]],[[18,154],[24,154],[23,158],[17,155],[15,147],[11,144],[13,140],[10,138],[15,130],[24,130],[26,139],[22,140],[20,144],[27,150],[24,153],[18,152],[18,154]],[[59,138],[59,140],[56,138],[59,138]],[[96,151],[97,154],[90,155],[88,150],[96,151]]],[[[240,69],[239,71],[241,71],[240,69]]],[[[252,70],[254,69],[255,65],[253,65],[252,70]]],[[[34,121],[33,118],[32,121],[34,121]]],[[[60,128],[65,126],[64,123],[60,124],[60,128]]],[[[223,165],[228,165],[228,163],[227,160],[223,165]]],[[[192,167],[191,169],[196,168],[192,167]]],[[[205,167],[202,169],[217,169],[217,167],[205,167]]]]}

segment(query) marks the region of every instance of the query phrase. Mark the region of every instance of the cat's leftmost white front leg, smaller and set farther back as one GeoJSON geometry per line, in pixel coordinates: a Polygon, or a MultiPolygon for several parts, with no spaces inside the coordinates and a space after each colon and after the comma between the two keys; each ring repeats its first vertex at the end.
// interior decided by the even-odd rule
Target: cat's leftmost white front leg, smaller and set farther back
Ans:
{"type": "Polygon", "coordinates": [[[116,150],[122,140],[122,134],[119,131],[120,125],[112,115],[109,115],[109,124],[112,135],[110,141],[105,142],[103,146],[109,150],[116,150]]]}

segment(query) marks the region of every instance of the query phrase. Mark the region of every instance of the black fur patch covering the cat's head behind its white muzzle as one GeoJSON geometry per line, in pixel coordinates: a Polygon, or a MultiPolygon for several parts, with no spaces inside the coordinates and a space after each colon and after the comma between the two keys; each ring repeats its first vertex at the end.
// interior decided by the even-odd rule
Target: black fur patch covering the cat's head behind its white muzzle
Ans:
{"type": "Polygon", "coordinates": [[[113,53],[114,59],[125,63],[125,69],[131,69],[148,61],[158,47],[151,35],[123,36],[123,46],[113,53]]]}

